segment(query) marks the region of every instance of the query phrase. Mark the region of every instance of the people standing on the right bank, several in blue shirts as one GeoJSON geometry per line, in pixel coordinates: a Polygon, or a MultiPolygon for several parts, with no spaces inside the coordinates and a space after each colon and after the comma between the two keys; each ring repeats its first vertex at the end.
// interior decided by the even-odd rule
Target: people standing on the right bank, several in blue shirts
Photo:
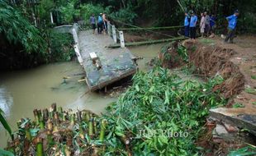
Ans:
{"type": "MultiPolygon", "coordinates": [[[[231,16],[226,17],[228,21],[228,34],[225,37],[225,42],[230,40],[230,43],[233,43],[233,39],[235,36],[235,27],[237,23],[237,18],[239,16],[239,11],[236,10],[235,13],[231,16]]],[[[185,20],[184,20],[184,35],[190,37],[191,39],[196,39],[196,32],[197,32],[197,15],[195,12],[191,12],[190,15],[185,13],[185,20]]],[[[209,34],[214,33],[214,29],[216,27],[216,16],[208,15],[205,11],[201,13],[201,20],[199,23],[201,37],[207,37],[209,34]]]]}

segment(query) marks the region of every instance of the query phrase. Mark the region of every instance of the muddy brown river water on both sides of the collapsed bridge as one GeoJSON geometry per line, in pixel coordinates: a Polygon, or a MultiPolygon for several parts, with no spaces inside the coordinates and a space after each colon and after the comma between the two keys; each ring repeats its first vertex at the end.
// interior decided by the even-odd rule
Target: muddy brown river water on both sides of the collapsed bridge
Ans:
{"type": "MultiPolygon", "coordinates": [[[[157,56],[164,44],[130,48],[130,51],[144,59],[138,61],[141,71],[149,68],[146,62],[157,56]]],[[[107,103],[115,101],[104,94],[88,93],[83,77],[83,69],[78,62],[60,62],[23,71],[0,73],[0,108],[7,121],[16,130],[16,122],[21,117],[33,119],[34,108],[49,108],[51,103],[63,108],[89,109],[104,112],[107,103]],[[70,78],[64,83],[64,76],[70,78]]],[[[8,135],[0,124],[0,148],[6,145],[8,135]]]]}

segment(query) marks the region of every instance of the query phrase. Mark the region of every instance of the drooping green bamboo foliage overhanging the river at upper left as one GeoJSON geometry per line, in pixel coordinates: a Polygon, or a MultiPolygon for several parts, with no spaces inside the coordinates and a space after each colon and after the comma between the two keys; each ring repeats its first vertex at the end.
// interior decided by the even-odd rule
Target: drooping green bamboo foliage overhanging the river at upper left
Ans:
{"type": "Polygon", "coordinates": [[[45,40],[34,25],[21,15],[21,12],[0,0],[0,33],[13,44],[21,44],[27,53],[45,53],[45,40]]]}

